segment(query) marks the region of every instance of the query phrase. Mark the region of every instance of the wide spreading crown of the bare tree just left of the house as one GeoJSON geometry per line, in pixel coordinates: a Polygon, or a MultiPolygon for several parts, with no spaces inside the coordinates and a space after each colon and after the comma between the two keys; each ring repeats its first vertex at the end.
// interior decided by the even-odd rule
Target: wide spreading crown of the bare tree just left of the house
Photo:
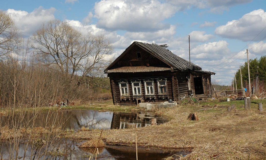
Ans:
{"type": "Polygon", "coordinates": [[[76,85],[86,76],[103,73],[113,52],[110,41],[103,35],[82,34],[67,22],[51,20],[33,34],[31,47],[38,63],[57,68],[70,76],[76,85]]]}

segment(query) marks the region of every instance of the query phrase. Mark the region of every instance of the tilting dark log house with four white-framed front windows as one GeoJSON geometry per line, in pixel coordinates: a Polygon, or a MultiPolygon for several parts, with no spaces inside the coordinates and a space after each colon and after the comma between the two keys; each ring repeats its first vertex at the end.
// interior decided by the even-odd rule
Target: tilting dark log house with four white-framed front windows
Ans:
{"type": "Polygon", "coordinates": [[[178,101],[193,94],[211,97],[210,71],[202,71],[166,49],[165,45],[133,42],[106,69],[115,105],[178,101]]]}

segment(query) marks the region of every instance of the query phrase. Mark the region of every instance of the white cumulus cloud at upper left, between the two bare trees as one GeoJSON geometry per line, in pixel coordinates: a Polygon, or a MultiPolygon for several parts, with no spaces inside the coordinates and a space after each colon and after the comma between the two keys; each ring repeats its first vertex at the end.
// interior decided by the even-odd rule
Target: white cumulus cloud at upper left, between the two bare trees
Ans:
{"type": "Polygon", "coordinates": [[[48,20],[55,19],[53,13],[56,11],[55,8],[44,9],[39,7],[34,11],[28,13],[26,11],[8,9],[12,18],[15,20],[16,25],[22,31],[24,36],[31,36],[36,30],[39,29],[40,25],[48,20]]]}

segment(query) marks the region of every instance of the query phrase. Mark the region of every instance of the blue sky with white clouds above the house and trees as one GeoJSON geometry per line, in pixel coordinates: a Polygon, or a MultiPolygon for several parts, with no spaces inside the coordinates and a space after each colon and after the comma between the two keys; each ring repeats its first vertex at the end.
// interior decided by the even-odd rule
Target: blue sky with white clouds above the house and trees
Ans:
{"type": "Polygon", "coordinates": [[[231,85],[239,65],[266,55],[265,0],[2,0],[25,39],[48,20],[69,22],[81,32],[103,34],[118,57],[134,41],[167,44],[202,70],[212,83],[231,85]],[[256,37],[256,38],[255,38],[256,37]],[[255,38],[255,39],[254,39],[255,38]]]}

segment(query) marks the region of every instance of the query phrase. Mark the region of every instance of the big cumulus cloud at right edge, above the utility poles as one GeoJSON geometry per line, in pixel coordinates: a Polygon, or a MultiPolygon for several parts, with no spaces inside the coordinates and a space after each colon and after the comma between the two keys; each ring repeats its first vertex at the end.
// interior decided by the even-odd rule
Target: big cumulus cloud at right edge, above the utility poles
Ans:
{"type": "Polygon", "coordinates": [[[242,41],[252,41],[254,39],[254,41],[260,41],[266,34],[265,26],[266,12],[258,9],[243,15],[238,20],[232,20],[227,22],[226,25],[217,27],[215,33],[230,39],[239,39],[242,41]],[[262,32],[259,34],[257,31],[262,32]]]}

